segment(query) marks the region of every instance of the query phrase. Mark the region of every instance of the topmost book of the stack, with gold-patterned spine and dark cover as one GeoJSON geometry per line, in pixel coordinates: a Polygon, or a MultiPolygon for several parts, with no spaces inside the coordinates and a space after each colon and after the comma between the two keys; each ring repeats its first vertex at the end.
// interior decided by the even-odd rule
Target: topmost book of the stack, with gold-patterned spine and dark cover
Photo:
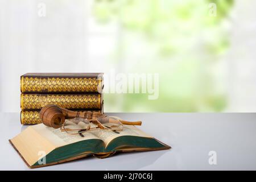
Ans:
{"type": "Polygon", "coordinates": [[[101,93],[103,73],[26,73],[22,93],[101,93]]]}

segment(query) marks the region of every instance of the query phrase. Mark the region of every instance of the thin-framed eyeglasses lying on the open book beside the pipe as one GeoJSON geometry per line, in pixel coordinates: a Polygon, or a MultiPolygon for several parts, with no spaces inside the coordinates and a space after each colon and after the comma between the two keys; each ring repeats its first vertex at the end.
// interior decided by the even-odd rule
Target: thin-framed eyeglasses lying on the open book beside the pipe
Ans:
{"type": "Polygon", "coordinates": [[[111,117],[101,115],[94,118],[73,118],[66,119],[60,130],[65,131],[69,135],[80,135],[84,137],[83,133],[89,130],[111,130],[119,134],[123,130],[123,125],[141,125],[141,121],[129,122],[124,121],[118,117],[111,117]]]}

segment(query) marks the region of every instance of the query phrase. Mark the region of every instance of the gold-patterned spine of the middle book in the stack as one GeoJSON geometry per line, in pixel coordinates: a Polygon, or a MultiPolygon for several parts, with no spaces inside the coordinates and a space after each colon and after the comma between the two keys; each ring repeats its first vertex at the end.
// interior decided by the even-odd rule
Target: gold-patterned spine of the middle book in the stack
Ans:
{"type": "Polygon", "coordinates": [[[85,94],[20,94],[22,110],[40,110],[55,104],[66,109],[101,109],[102,96],[97,93],[85,94]]]}

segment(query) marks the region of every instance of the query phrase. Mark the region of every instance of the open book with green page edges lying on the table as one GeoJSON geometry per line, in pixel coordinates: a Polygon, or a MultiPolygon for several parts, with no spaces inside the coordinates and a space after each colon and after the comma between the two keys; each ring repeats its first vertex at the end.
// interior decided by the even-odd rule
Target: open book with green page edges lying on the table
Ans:
{"type": "Polygon", "coordinates": [[[137,127],[126,125],[119,134],[111,130],[89,130],[81,137],[39,124],[27,127],[9,141],[30,168],[63,163],[88,155],[106,158],[115,152],[171,148],[137,127]]]}

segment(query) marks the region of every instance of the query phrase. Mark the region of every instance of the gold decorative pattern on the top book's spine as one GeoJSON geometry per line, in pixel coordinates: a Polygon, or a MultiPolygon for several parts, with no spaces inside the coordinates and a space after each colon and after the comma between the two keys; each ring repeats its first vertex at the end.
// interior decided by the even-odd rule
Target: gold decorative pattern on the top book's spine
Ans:
{"type": "Polygon", "coordinates": [[[101,91],[101,79],[22,76],[20,78],[20,90],[22,93],[98,92],[101,91]]]}

